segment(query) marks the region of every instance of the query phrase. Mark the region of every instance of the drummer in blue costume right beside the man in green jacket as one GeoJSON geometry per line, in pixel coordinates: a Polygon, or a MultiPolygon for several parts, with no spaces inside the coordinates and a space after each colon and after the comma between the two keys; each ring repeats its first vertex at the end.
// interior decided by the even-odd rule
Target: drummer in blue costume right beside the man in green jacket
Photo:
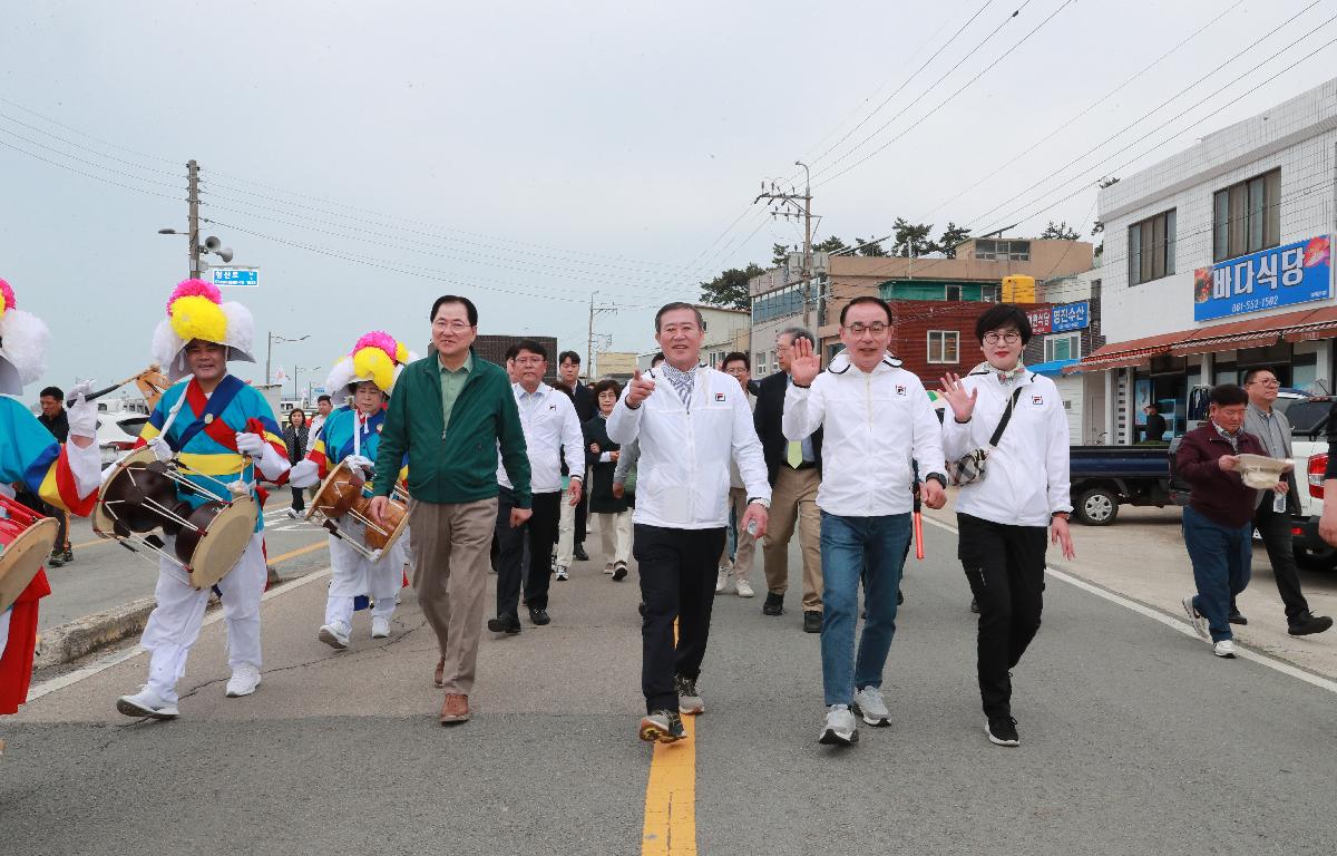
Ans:
{"type": "MultiPolygon", "coordinates": [[[[326,417],[320,436],[305,460],[293,467],[289,483],[309,487],[326,479],[344,461],[354,476],[372,483],[372,467],[385,424],[385,403],[404,364],[417,357],[388,333],[373,332],[357,340],[353,352],[341,358],[325,381],[325,389],[340,401],[345,395],[352,407],[338,408],[326,417]]],[[[377,477],[402,480],[405,471],[376,473],[377,477]]],[[[361,538],[365,526],[344,514],[334,526],[346,538],[361,538]]],[[[325,602],[325,623],[317,638],[336,649],[345,649],[353,633],[354,602],[372,599],[372,638],[390,635],[394,595],[404,586],[408,535],[401,534],[390,548],[373,560],[344,538],[330,535],[332,579],[325,602]]]]}

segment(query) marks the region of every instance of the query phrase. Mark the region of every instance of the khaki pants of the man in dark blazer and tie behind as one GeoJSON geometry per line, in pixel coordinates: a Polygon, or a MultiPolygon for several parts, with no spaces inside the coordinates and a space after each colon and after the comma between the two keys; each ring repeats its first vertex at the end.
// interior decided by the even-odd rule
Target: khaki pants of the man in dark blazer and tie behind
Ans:
{"type": "Polygon", "coordinates": [[[789,588],[789,539],[798,524],[798,547],[804,554],[804,611],[822,611],[821,512],[817,510],[817,468],[794,469],[779,465],[770,490],[770,518],[762,543],[766,590],[785,594],[789,588]]]}

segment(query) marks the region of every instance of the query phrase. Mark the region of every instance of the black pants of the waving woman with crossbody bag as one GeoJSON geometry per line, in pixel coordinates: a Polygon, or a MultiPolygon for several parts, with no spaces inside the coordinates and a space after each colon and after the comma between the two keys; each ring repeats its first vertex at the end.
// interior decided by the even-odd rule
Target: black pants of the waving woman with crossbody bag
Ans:
{"type": "Polygon", "coordinates": [[[1040,630],[1048,528],[1007,526],[957,514],[957,555],[980,605],[977,637],[980,700],[988,717],[1009,716],[1008,670],[1040,630]]]}

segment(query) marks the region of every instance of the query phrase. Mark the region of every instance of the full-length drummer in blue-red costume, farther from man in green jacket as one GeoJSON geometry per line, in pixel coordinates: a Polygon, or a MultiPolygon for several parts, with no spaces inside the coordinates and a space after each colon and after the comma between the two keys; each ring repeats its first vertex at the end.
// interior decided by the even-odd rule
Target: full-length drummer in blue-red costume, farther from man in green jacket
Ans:
{"type": "MultiPolygon", "coordinates": [[[[139,436],[162,461],[176,460],[179,472],[203,491],[255,498],[261,479],[287,480],[287,448],[274,412],[254,388],[227,372],[227,361],[254,362],[255,325],[238,302],[223,302],[218,288],[186,280],[167,301],[167,317],[154,333],[154,358],[172,387],[163,393],[139,436]]],[[[209,499],[178,483],[180,500],[199,507],[209,499]]],[[[258,504],[257,504],[258,507],[258,504]]],[[[231,678],[226,696],[250,696],[259,686],[259,599],[266,567],[263,515],[255,515],[250,542],[241,559],[218,582],[227,627],[227,663],[231,678]]],[[[166,536],[164,552],[172,551],[166,536]]],[[[116,710],[132,717],[174,718],[176,682],[186,657],[199,637],[209,605],[209,588],[191,586],[190,575],[166,555],[158,564],[158,606],[148,617],[140,643],[148,649],[148,682],[132,696],[122,696],[116,710]]]]}

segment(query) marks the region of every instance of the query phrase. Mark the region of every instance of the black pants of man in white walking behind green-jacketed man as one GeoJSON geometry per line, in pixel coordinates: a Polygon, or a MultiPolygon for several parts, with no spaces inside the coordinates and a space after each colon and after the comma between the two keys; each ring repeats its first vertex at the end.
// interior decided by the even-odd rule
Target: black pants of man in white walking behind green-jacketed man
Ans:
{"type": "Polygon", "coordinates": [[[501,488],[497,496],[497,615],[519,615],[520,586],[524,605],[548,609],[548,582],[552,579],[552,544],[562,522],[562,494],[535,494],[533,515],[520,528],[511,528],[515,495],[501,488]],[[524,560],[528,540],[529,560],[524,560]]]}

